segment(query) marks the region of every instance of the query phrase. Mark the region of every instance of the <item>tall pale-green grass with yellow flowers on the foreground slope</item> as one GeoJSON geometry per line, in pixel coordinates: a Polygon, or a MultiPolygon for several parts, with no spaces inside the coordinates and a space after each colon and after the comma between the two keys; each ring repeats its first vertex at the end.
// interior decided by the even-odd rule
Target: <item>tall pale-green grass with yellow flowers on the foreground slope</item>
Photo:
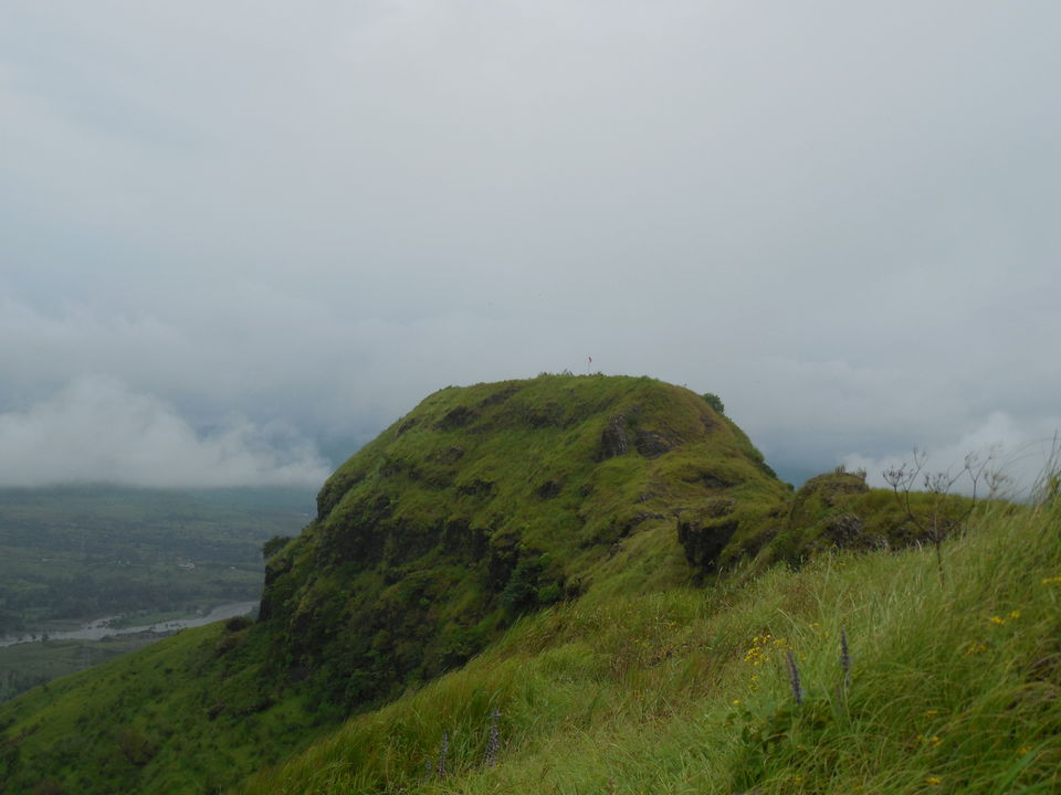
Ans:
{"type": "Polygon", "coordinates": [[[947,554],[945,583],[913,550],[556,608],[242,792],[1059,792],[1061,509],[947,554]]]}

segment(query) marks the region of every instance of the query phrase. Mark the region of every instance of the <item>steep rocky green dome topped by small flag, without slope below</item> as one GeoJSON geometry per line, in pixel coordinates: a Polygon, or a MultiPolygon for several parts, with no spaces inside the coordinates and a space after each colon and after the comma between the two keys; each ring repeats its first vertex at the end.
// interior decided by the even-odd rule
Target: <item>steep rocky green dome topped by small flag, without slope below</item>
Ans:
{"type": "Polygon", "coordinates": [[[735,556],[742,527],[779,516],[786,495],[747,437],[681,388],[450,388],[325,484],[316,521],[269,561],[261,616],[291,670],[328,700],[370,703],[620,569],[642,586],[686,581],[676,520],[710,537],[701,568],[735,556]]]}

